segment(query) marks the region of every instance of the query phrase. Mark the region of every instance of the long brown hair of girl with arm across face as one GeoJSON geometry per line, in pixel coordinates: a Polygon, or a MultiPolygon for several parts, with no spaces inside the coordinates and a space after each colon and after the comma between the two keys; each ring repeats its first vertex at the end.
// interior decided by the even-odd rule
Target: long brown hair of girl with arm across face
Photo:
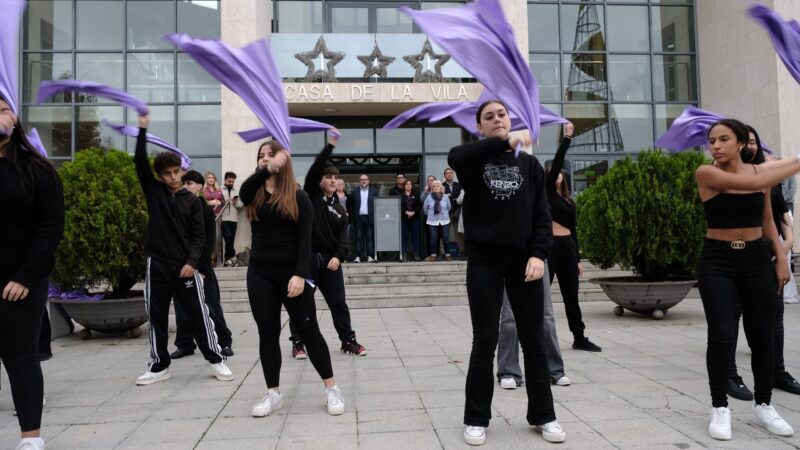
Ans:
{"type": "MultiPolygon", "coordinates": [[[[273,154],[286,151],[278,141],[270,140],[258,147],[257,155],[260,155],[261,149],[266,146],[269,146],[273,154]]],[[[256,161],[259,159],[260,158],[256,156],[256,161]]],[[[280,172],[274,174],[273,177],[275,177],[275,189],[267,204],[272,208],[276,208],[283,217],[297,222],[300,210],[297,207],[297,181],[294,179],[294,171],[292,170],[292,158],[287,159],[286,164],[281,167],[280,172]]],[[[266,188],[256,190],[255,198],[247,205],[247,208],[245,208],[245,213],[249,220],[258,221],[258,209],[264,204],[266,198],[266,188]]]]}

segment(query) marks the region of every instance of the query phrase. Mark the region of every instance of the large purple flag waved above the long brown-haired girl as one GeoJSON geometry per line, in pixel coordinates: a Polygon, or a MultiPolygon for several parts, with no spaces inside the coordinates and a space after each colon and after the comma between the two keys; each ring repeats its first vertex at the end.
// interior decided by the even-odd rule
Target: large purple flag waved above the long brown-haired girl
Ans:
{"type": "Polygon", "coordinates": [[[233,48],[218,39],[194,39],[186,34],[168,34],[165,38],[238,95],[269,135],[289,149],[289,108],[268,39],[233,48]]]}

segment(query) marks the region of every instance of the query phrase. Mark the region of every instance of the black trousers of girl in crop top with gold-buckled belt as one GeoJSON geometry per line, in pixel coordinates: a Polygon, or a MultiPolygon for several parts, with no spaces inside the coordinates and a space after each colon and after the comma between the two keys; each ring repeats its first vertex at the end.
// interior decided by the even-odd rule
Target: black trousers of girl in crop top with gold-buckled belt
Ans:
{"type": "Polygon", "coordinates": [[[733,250],[729,242],[706,239],[700,256],[699,288],[708,322],[706,366],[712,405],[728,406],[728,363],[736,346],[739,308],[752,351],[755,401],[769,404],[778,284],[768,244],[752,241],[743,250],[733,250]]]}

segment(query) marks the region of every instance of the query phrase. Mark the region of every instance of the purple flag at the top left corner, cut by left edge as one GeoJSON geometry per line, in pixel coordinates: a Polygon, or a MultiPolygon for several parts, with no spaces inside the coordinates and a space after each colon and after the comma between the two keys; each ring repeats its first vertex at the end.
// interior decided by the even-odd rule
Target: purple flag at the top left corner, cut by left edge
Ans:
{"type": "Polygon", "coordinates": [[[0,97],[5,99],[15,115],[19,115],[17,57],[24,10],[24,0],[0,0],[0,97]]]}

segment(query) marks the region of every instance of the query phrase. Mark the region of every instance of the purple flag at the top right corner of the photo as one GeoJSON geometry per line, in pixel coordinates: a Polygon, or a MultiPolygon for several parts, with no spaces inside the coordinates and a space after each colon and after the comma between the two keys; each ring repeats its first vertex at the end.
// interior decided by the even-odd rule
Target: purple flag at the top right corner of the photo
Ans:
{"type": "Polygon", "coordinates": [[[800,24],[794,19],[784,20],[780,14],[764,5],[753,5],[747,13],[767,30],[778,56],[792,77],[800,83],[800,24]]]}

